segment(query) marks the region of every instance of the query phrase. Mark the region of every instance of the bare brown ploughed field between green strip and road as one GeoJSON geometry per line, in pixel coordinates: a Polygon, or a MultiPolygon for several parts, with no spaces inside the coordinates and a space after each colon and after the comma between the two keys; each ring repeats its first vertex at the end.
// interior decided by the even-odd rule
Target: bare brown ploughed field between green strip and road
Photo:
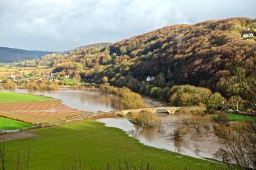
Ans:
{"type": "Polygon", "coordinates": [[[0,114],[20,120],[40,123],[57,121],[87,112],[73,109],[58,101],[0,103],[0,114]]]}

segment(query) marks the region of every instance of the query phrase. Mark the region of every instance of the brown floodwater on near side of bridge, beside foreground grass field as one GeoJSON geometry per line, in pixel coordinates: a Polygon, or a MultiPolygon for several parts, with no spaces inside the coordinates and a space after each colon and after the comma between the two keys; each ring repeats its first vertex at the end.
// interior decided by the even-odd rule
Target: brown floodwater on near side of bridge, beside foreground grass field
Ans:
{"type": "Polygon", "coordinates": [[[155,148],[166,149],[196,158],[214,158],[214,154],[221,146],[219,137],[210,126],[196,132],[193,127],[185,126],[187,134],[180,141],[173,140],[172,134],[177,125],[180,125],[179,115],[158,115],[162,120],[162,130],[159,128],[143,128],[135,126],[127,118],[102,118],[98,119],[108,127],[117,127],[125,131],[130,137],[137,138],[141,143],[155,148]]]}

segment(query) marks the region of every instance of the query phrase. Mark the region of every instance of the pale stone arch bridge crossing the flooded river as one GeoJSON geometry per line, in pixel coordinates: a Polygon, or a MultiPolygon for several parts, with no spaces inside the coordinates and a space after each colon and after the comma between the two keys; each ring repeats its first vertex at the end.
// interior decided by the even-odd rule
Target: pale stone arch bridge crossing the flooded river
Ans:
{"type": "Polygon", "coordinates": [[[166,110],[168,114],[174,114],[177,110],[180,109],[196,110],[198,107],[145,107],[139,109],[126,109],[122,110],[122,115],[126,115],[129,112],[140,112],[141,110],[151,110],[152,112],[157,112],[158,110],[166,110]]]}

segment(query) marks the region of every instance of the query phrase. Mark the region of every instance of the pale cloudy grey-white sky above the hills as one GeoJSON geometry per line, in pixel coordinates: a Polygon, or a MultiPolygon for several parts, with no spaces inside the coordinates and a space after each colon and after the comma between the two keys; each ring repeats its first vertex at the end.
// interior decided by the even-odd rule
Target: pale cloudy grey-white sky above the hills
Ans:
{"type": "Polygon", "coordinates": [[[256,18],[256,0],[0,0],[0,46],[65,51],[166,25],[256,18]]]}

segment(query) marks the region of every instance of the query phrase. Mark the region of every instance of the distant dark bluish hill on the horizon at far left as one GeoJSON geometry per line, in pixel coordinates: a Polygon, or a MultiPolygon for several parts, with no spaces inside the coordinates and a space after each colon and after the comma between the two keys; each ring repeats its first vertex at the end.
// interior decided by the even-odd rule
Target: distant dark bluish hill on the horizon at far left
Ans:
{"type": "Polygon", "coordinates": [[[40,58],[46,54],[51,54],[54,52],[44,52],[36,50],[21,50],[12,49],[8,47],[0,47],[0,63],[13,63],[26,60],[34,60],[40,58]]]}

